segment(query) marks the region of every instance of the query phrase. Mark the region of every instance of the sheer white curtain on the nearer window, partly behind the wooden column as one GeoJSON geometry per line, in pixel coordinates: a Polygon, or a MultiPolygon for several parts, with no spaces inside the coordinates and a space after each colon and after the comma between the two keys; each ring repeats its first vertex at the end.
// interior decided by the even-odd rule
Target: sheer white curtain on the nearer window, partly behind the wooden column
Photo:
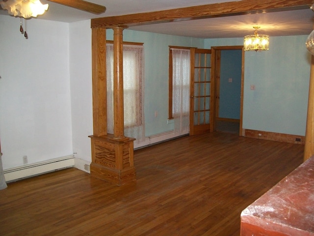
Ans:
{"type": "MultiPolygon", "coordinates": [[[[124,135],[145,140],[144,47],[123,45],[124,135]]],[[[113,133],[113,45],[107,44],[107,130],[113,133]]]]}

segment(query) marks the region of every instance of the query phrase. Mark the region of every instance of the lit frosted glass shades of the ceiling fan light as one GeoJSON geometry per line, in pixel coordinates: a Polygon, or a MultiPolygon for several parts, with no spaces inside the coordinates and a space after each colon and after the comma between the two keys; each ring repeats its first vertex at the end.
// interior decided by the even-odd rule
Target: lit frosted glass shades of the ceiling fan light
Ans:
{"type": "Polygon", "coordinates": [[[48,4],[43,5],[40,0],[2,0],[0,4],[11,16],[25,19],[44,14],[49,6],[48,4]]]}

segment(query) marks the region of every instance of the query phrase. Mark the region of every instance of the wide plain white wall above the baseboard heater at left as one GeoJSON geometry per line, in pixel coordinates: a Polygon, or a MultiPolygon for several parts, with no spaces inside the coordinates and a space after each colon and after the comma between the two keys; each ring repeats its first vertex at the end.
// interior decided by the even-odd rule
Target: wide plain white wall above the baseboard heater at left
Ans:
{"type": "Polygon", "coordinates": [[[71,155],[69,24],[0,15],[3,169],[71,155]]]}

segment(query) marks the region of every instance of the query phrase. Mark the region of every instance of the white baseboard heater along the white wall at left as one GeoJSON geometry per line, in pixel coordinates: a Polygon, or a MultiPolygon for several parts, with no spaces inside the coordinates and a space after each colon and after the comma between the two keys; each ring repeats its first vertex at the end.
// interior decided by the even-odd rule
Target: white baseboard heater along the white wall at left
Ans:
{"type": "Polygon", "coordinates": [[[74,156],[64,156],[48,161],[37,162],[29,165],[19,166],[3,171],[5,181],[12,182],[21,178],[32,177],[48,172],[69,168],[74,166],[74,156]]]}

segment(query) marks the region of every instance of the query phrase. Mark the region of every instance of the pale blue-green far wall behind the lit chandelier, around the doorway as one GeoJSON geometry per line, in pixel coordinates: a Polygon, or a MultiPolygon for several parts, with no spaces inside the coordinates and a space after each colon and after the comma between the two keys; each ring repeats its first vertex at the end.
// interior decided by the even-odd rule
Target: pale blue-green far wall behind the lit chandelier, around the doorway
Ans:
{"type": "MultiPolygon", "coordinates": [[[[270,37],[269,51],[245,52],[243,128],[305,135],[311,67],[306,39],[270,37]]],[[[206,48],[227,45],[243,45],[242,38],[205,40],[206,48]]]]}

